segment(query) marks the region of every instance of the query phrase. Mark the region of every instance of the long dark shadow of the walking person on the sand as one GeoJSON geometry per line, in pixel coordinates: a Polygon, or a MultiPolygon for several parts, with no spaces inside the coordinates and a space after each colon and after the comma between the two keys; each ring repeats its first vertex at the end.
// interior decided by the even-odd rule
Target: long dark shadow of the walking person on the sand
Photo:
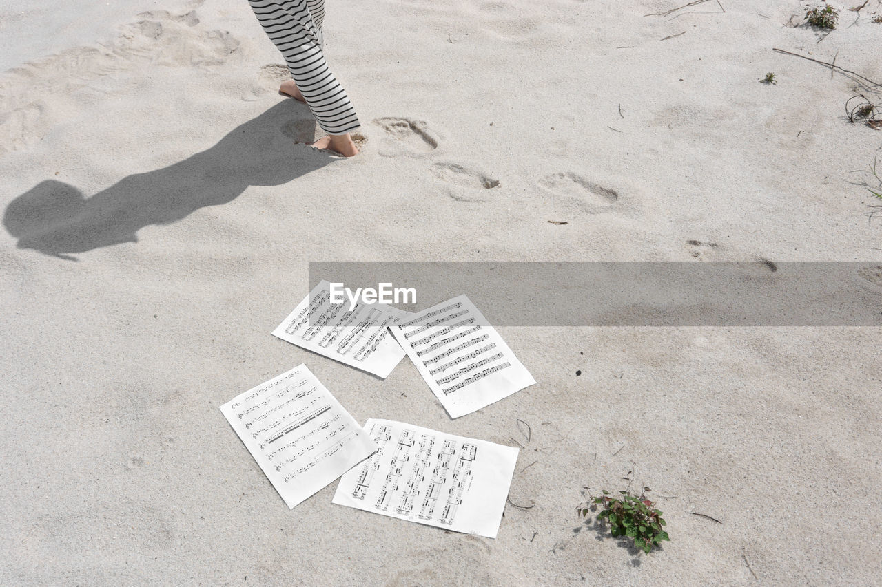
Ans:
{"type": "Polygon", "coordinates": [[[212,148],[129,175],[93,197],[64,182],[40,182],[6,207],[4,227],[19,239],[19,249],[71,261],[77,260],[71,253],[137,242],[142,227],[169,224],[232,202],[251,185],[280,185],[331,163],[329,152],[295,143],[314,140],[314,130],[309,111],[282,101],[212,148]]]}

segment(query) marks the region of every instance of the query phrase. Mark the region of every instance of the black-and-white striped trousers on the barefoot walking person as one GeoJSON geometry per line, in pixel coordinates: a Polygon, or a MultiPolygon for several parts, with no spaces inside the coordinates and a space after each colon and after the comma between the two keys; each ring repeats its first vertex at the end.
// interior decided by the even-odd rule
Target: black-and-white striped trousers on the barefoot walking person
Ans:
{"type": "Polygon", "coordinates": [[[285,57],[288,71],[318,125],[342,135],[359,127],[355,108],[322,52],[325,0],[248,0],[260,26],[285,57]]]}

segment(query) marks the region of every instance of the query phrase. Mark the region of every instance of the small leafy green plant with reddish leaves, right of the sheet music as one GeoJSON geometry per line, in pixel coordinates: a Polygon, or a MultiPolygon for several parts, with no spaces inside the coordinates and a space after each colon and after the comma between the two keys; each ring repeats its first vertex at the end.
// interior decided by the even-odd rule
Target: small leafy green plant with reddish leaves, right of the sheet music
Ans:
{"type": "Polygon", "coordinates": [[[633,539],[634,546],[649,554],[654,547],[661,545],[662,540],[670,539],[668,532],[662,530],[665,525],[662,512],[646,499],[647,491],[649,487],[644,487],[639,495],[634,495],[626,489],[618,492],[622,495],[621,498],[616,498],[610,496],[609,491],[603,490],[599,497],[588,499],[588,507],[579,506],[579,514],[586,518],[589,510],[601,508],[595,519],[601,524],[609,525],[609,533],[613,538],[633,539]]]}

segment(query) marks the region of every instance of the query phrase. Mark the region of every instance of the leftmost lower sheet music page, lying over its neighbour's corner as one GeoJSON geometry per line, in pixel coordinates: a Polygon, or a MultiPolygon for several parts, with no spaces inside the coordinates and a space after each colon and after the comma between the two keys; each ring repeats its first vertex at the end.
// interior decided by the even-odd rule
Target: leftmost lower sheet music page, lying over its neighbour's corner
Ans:
{"type": "Polygon", "coordinates": [[[245,391],[221,412],[288,508],[377,450],[305,365],[245,391]]]}

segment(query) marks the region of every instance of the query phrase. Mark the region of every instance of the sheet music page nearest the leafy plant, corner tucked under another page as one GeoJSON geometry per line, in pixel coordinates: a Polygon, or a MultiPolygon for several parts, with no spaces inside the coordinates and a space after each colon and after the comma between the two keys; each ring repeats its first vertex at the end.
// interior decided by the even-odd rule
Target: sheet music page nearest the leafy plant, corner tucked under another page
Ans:
{"type": "Polygon", "coordinates": [[[392,420],[368,420],[379,446],[340,479],[333,503],[495,539],[518,449],[392,420]]]}

